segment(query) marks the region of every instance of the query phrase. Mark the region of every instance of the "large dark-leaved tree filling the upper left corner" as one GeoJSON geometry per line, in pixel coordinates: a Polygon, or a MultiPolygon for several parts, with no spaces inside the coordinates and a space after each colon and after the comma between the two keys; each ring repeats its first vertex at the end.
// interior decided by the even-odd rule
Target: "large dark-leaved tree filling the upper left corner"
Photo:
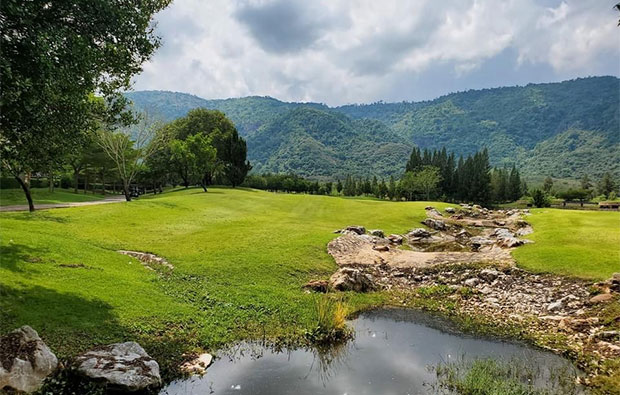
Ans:
{"type": "Polygon", "coordinates": [[[93,92],[107,99],[106,121],[129,121],[119,92],[159,46],[152,18],[169,2],[0,2],[0,154],[31,211],[29,174],[96,127],[93,92]]]}

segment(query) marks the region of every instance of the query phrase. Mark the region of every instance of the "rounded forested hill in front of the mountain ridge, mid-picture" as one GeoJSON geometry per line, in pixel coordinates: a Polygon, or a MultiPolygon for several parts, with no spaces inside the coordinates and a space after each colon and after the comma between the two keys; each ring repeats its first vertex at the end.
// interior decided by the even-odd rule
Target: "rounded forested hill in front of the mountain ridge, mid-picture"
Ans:
{"type": "Polygon", "coordinates": [[[383,123],[300,106],[248,137],[258,172],[319,178],[387,176],[404,170],[412,145],[383,123]]]}

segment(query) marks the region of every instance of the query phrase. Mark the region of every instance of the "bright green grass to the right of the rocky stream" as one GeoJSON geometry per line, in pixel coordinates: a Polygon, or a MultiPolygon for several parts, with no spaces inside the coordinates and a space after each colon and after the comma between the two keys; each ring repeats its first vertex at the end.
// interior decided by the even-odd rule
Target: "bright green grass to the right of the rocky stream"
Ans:
{"type": "Polygon", "coordinates": [[[535,209],[526,219],[534,244],[513,252],[521,267],[595,280],[620,272],[619,212],[535,209]]]}

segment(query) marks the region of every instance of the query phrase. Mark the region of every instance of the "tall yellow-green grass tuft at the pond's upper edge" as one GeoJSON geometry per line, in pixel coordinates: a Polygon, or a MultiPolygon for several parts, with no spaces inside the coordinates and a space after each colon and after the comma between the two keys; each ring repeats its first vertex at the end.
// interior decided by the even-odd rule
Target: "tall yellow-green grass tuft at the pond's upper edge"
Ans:
{"type": "Polygon", "coordinates": [[[341,298],[322,295],[314,298],[316,325],[306,332],[313,344],[339,343],[351,337],[347,327],[348,308],[341,298]]]}

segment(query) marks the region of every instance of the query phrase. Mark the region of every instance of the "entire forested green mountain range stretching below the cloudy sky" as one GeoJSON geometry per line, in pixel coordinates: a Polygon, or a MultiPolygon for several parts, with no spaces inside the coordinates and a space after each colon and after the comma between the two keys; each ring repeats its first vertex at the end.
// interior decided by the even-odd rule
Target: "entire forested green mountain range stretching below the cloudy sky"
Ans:
{"type": "Polygon", "coordinates": [[[136,110],[170,121],[193,108],[224,112],[248,144],[256,172],[314,179],[399,176],[414,146],[469,155],[486,147],[493,166],[526,176],[620,179],[620,80],[470,90],[424,102],[283,102],[272,97],[206,100],[169,91],[129,92],[136,110]]]}

